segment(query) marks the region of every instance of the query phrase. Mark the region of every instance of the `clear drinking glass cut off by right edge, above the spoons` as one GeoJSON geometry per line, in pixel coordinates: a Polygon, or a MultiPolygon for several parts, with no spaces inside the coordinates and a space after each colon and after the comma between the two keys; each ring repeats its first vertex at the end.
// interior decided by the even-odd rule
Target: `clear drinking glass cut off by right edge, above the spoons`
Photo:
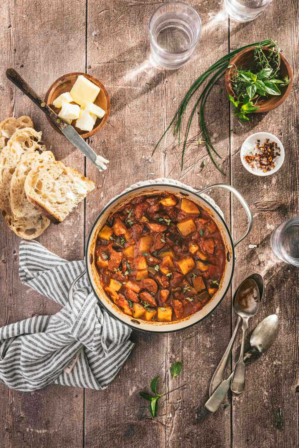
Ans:
{"type": "Polygon", "coordinates": [[[299,216],[284,221],[274,230],[271,247],[282,261],[299,267],[299,216]]]}

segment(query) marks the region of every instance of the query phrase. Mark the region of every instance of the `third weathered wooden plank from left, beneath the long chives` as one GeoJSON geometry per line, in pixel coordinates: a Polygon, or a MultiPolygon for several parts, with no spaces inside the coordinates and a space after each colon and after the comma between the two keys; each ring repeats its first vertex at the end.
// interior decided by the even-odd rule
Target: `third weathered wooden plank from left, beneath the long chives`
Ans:
{"type": "MultiPolygon", "coordinates": [[[[175,79],[169,76],[169,72],[166,73],[166,79],[169,76],[168,85],[172,87],[173,96],[176,95],[177,98],[175,104],[171,105],[172,96],[170,94],[167,96],[167,106],[171,111],[165,120],[168,123],[175,112],[175,106],[178,105],[179,99],[182,99],[192,82],[227,52],[227,21],[223,15],[219,14],[218,3],[216,1],[209,2],[201,4],[200,7],[195,3],[191,3],[191,5],[195,7],[202,19],[203,32],[194,60],[178,70],[175,79]]],[[[173,138],[169,134],[166,144],[166,159],[169,158],[170,177],[196,188],[220,182],[230,183],[229,109],[225,107],[223,88],[222,80],[213,88],[206,104],[205,115],[209,135],[223,158],[220,160],[215,156],[215,159],[227,173],[226,177],[212,164],[205,146],[192,147],[191,145],[189,147],[185,153],[185,168],[181,171],[181,150],[179,151],[176,147],[174,151],[171,150],[177,144],[177,138],[173,138]],[[222,103],[224,103],[224,107],[222,103]],[[204,161],[207,162],[205,167],[203,166],[204,161]]],[[[197,98],[202,91],[203,87],[199,89],[197,98]]],[[[195,100],[188,108],[185,117],[183,127],[185,132],[186,120],[189,118],[194,104],[195,100]]],[[[198,133],[199,121],[197,113],[195,113],[189,136],[192,139],[198,133]]],[[[199,137],[202,138],[201,135],[199,137]]],[[[197,138],[195,138],[195,145],[197,138]]],[[[230,226],[230,195],[220,189],[211,190],[210,195],[221,207],[226,222],[230,226]]],[[[167,397],[167,447],[230,446],[230,406],[224,412],[220,411],[214,415],[209,415],[208,411],[204,409],[212,374],[230,340],[230,326],[230,293],[228,293],[217,310],[204,321],[183,332],[167,336],[169,354],[167,367],[169,368],[178,360],[183,362],[182,374],[174,380],[169,374],[167,379],[167,391],[178,388],[167,397]]],[[[229,401],[226,400],[225,403],[229,403],[229,401]]]]}

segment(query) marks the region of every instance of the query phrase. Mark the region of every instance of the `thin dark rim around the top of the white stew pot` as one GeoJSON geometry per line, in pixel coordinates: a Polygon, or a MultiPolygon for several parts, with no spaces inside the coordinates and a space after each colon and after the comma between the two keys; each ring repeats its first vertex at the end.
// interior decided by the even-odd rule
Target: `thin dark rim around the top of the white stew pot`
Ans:
{"type": "Polygon", "coordinates": [[[163,184],[161,184],[161,183],[158,184],[158,183],[157,183],[157,184],[152,184],[152,185],[140,185],[139,187],[133,188],[132,190],[125,191],[124,193],[117,195],[117,197],[114,198],[111,202],[108,202],[108,204],[103,208],[103,210],[100,212],[100,214],[99,214],[99,215],[97,216],[97,218],[95,219],[95,222],[92,224],[91,229],[90,229],[90,232],[89,232],[89,235],[88,235],[88,238],[87,238],[86,248],[85,248],[85,266],[86,266],[86,271],[87,271],[87,277],[88,277],[89,283],[90,283],[90,285],[91,285],[91,289],[93,290],[93,292],[94,292],[94,294],[95,294],[95,297],[96,297],[97,300],[100,302],[101,306],[103,306],[104,309],[105,309],[111,316],[113,316],[115,319],[119,320],[119,321],[120,321],[121,323],[123,323],[124,325],[127,325],[128,327],[132,328],[133,330],[137,330],[137,331],[139,331],[139,332],[144,332],[144,333],[175,333],[175,332],[179,332],[179,331],[182,331],[182,330],[186,330],[187,328],[191,328],[191,327],[193,327],[194,325],[196,325],[197,323],[202,322],[204,319],[206,319],[210,314],[212,314],[212,312],[214,312],[214,311],[216,310],[216,308],[221,304],[221,302],[223,301],[224,297],[226,296],[226,294],[227,294],[227,292],[228,292],[228,290],[229,290],[229,288],[230,288],[231,282],[232,282],[232,280],[233,280],[233,276],[234,276],[234,265],[235,265],[235,254],[234,254],[234,242],[233,242],[233,238],[232,238],[232,236],[231,236],[230,229],[228,228],[228,225],[226,224],[224,218],[222,218],[222,216],[220,215],[220,213],[219,213],[219,212],[218,212],[218,211],[217,211],[217,210],[216,210],[216,209],[215,209],[215,208],[214,208],[214,207],[213,207],[213,206],[212,206],[212,205],[211,205],[205,198],[203,198],[202,196],[200,196],[200,192],[199,192],[199,193],[196,193],[195,191],[188,190],[186,187],[180,187],[180,186],[178,186],[178,185],[172,185],[172,184],[166,184],[166,183],[163,183],[163,184]],[[103,213],[108,209],[108,207],[110,207],[114,202],[116,202],[118,199],[122,198],[123,196],[126,196],[127,194],[131,194],[132,192],[137,191],[137,190],[141,190],[141,189],[143,189],[143,188],[145,188],[145,187],[155,187],[155,186],[157,186],[157,187],[165,187],[165,188],[167,188],[167,187],[175,187],[175,188],[177,188],[178,190],[184,190],[184,191],[186,191],[186,192],[188,192],[188,193],[193,193],[193,194],[195,194],[195,196],[198,196],[199,199],[203,200],[206,204],[208,204],[209,207],[212,207],[212,210],[215,211],[215,213],[217,213],[217,215],[219,216],[219,218],[221,219],[222,223],[224,224],[224,226],[225,226],[225,228],[226,228],[226,231],[227,231],[227,233],[228,233],[228,235],[229,235],[229,237],[230,237],[231,250],[232,250],[232,270],[231,270],[230,280],[228,281],[228,284],[227,284],[227,287],[226,287],[226,289],[225,289],[225,292],[223,293],[223,295],[222,295],[221,299],[219,300],[219,302],[217,303],[217,305],[214,306],[214,308],[213,308],[208,314],[206,314],[203,318],[197,320],[196,322],[191,323],[190,325],[188,325],[188,326],[186,326],[186,327],[178,328],[178,329],[175,329],[175,330],[168,330],[168,331],[167,331],[167,330],[165,330],[165,331],[145,330],[145,329],[141,329],[141,328],[139,329],[139,328],[133,327],[133,325],[130,325],[129,323],[124,322],[121,318],[119,318],[118,316],[116,316],[115,314],[113,314],[110,310],[108,310],[108,308],[107,308],[107,307],[104,305],[104,303],[100,300],[98,294],[97,294],[96,291],[95,291],[95,288],[93,287],[93,284],[92,284],[92,281],[91,281],[91,277],[90,277],[90,275],[89,275],[89,266],[88,266],[88,263],[89,263],[89,257],[87,256],[87,254],[88,254],[88,247],[89,247],[89,244],[90,244],[90,241],[91,241],[91,234],[92,234],[92,232],[93,232],[93,229],[95,228],[95,225],[96,225],[97,222],[99,221],[100,217],[101,217],[101,216],[103,215],[103,213]]]}

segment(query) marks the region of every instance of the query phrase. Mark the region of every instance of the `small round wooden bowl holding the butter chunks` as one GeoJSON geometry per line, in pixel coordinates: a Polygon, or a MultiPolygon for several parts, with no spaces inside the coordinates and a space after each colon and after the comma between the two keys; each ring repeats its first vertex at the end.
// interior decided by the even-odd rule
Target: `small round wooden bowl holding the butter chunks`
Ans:
{"type": "MultiPolygon", "coordinates": [[[[96,119],[94,128],[90,132],[82,131],[81,129],[76,128],[76,120],[72,121],[72,126],[76,129],[78,134],[80,134],[82,138],[87,138],[91,137],[91,135],[96,134],[100,131],[100,129],[104,127],[110,113],[110,98],[108,92],[98,79],[94,78],[91,75],[87,75],[87,73],[68,73],[64,76],[61,76],[61,78],[56,79],[56,81],[53,82],[52,86],[49,87],[49,90],[45,97],[45,102],[54,112],[56,112],[56,114],[58,114],[61,109],[54,107],[53,101],[62,93],[69,92],[74,86],[74,83],[79,75],[83,75],[85,78],[93,82],[96,86],[100,87],[101,90],[99,95],[95,99],[95,104],[105,111],[105,115],[103,116],[103,118],[96,119]]],[[[76,103],[72,102],[72,104],[76,103]]],[[[59,132],[61,135],[63,135],[61,130],[58,129],[48,117],[47,120],[52,128],[56,130],[56,132],[59,132]]]]}

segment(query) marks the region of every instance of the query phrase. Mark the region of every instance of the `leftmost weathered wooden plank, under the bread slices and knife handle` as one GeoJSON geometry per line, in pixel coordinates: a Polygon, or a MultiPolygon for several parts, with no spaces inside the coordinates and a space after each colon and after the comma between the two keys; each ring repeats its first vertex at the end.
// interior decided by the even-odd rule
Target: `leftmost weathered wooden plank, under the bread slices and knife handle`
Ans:
{"type": "MultiPolygon", "coordinates": [[[[1,26],[4,32],[0,36],[3,49],[0,119],[31,116],[56,159],[84,172],[83,156],[53,131],[40,110],[5,78],[4,69],[15,68],[42,97],[48,86],[64,73],[84,72],[85,3],[4,1],[1,26]]],[[[83,210],[81,204],[65,223],[51,225],[39,241],[64,258],[82,258],[83,210]]],[[[59,309],[21,284],[17,272],[19,242],[1,218],[0,325],[59,309]]],[[[82,390],[49,386],[30,394],[2,385],[1,396],[1,447],[82,446],[82,390]]]]}

